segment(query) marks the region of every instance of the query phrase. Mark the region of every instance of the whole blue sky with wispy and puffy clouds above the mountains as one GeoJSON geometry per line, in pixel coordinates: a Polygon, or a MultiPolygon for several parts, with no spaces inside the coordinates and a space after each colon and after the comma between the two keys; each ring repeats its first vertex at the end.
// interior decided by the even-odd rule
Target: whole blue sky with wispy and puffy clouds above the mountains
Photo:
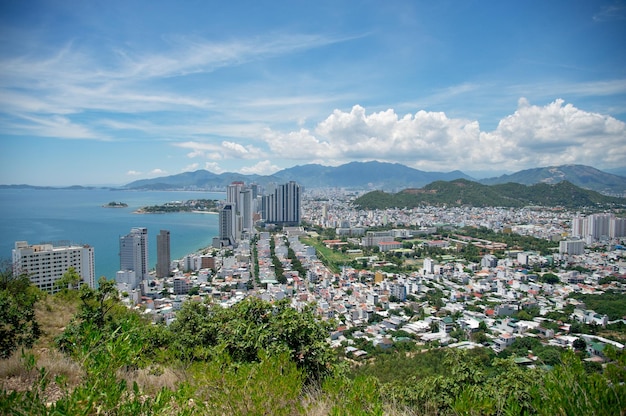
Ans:
{"type": "Polygon", "coordinates": [[[0,184],[626,168],[626,0],[0,0],[0,184]]]}

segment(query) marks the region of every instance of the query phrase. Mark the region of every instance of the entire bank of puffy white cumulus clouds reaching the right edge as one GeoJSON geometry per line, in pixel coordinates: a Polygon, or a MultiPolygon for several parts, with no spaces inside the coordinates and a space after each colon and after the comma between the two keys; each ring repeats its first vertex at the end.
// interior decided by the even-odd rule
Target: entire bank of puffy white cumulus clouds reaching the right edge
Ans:
{"type": "Polygon", "coordinates": [[[505,169],[567,163],[626,165],[626,124],[557,99],[532,105],[525,98],[491,132],[475,120],[443,112],[367,114],[355,105],[335,110],[315,129],[266,130],[272,154],[292,160],[400,162],[426,170],[505,169]]]}

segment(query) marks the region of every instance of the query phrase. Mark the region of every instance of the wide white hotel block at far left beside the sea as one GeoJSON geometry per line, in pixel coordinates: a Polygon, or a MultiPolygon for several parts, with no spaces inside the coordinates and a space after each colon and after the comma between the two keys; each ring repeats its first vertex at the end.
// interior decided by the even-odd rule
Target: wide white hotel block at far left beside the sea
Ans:
{"type": "Polygon", "coordinates": [[[82,281],[95,288],[96,272],[94,248],[89,245],[28,245],[16,241],[13,249],[13,273],[27,274],[39,289],[49,293],[58,291],[56,281],[73,267],[82,281]]]}

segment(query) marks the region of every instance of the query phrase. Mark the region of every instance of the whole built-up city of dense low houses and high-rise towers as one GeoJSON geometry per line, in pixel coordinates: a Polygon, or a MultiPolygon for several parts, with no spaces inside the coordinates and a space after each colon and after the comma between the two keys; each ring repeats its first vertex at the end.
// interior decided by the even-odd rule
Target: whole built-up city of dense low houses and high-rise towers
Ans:
{"type": "MultiPolygon", "coordinates": [[[[219,204],[212,247],[172,261],[169,231],[160,230],[157,267],[148,270],[148,230],[121,237],[118,290],[128,307],[166,323],[189,301],[229,307],[256,296],[287,298],[297,309],[313,304],[336,324],[329,342],[355,359],[406,342],[500,352],[520,337],[563,348],[582,339],[598,361],[606,345],[624,348],[570,329],[624,322],[571,295],[624,292],[626,219],[542,207],[361,210],[356,196],[305,192],[295,182],[261,195],[235,182],[219,204]],[[470,229],[535,237],[550,249],[463,232],[470,229]],[[554,319],[555,312],[565,318],[554,319]],[[472,336],[481,329],[486,335],[472,336]]],[[[93,259],[91,246],[20,241],[13,250],[14,269],[51,292],[69,267],[93,287],[93,259]]]]}

